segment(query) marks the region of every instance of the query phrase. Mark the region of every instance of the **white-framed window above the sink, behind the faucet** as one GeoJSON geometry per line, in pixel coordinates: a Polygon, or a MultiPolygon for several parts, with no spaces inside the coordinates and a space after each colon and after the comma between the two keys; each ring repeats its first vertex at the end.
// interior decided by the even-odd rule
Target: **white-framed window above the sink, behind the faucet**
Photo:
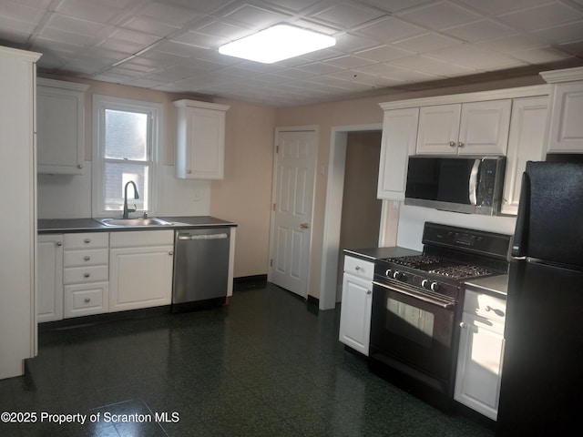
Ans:
{"type": "Polygon", "coordinates": [[[111,217],[128,206],[156,213],[160,126],[159,104],[118,97],[93,97],[93,216],[111,217]]]}

